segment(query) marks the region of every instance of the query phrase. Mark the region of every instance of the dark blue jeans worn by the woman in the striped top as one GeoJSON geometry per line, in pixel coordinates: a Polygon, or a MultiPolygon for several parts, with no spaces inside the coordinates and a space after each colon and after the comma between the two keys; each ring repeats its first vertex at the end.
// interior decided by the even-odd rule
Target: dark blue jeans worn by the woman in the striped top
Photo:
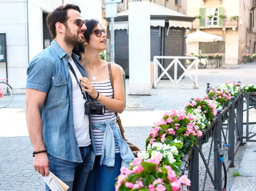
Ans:
{"type": "Polygon", "coordinates": [[[115,154],[115,166],[99,165],[101,155],[97,155],[90,171],[84,191],[115,191],[116,177],[120,174],[122,158],[115,154]]]}

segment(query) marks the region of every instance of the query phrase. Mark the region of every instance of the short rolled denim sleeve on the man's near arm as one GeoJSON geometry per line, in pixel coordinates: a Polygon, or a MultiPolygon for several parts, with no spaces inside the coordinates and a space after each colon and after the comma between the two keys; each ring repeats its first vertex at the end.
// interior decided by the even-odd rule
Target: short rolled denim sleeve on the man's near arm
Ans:
{"type": "Polygon", "coordinates": [[[52,69],[47,63],[47,60],[35,57],[29,63],[27,75],[26,89],[49,91],[52,83],[52,69]]]}

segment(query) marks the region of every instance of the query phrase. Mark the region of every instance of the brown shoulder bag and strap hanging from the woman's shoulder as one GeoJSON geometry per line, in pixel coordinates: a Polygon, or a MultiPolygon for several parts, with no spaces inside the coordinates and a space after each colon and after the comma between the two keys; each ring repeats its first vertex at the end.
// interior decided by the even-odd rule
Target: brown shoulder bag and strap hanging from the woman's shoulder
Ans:
{"type": "MultiPolygon", "coordinates": [[[[113,86],[113,74],[112,74],[112,69],[111,69],[111,63],[108,63],[108,73],[109,73],[109,77],[110,77],[110,82],[111,82],[111,86],[113,88],[113,98],[114,98],[114,86],[113,86]]],[[[117,112],[115,112],[116,115],[116,123],[119,126],[120,132],[121,132],[121,136],[122,139],[128,144],[128,146],[131,148],[131,151],[133,152],[134,156],[137,157],[138,152],[140,152],[140,149],[135,146],[133,143],[131,143],[130,141],[128,141],[127,139],[125,139],[125,135],[124,135],[124,128],[122,127],[122,122],[120,117],[118,116],[117,112]]]]}

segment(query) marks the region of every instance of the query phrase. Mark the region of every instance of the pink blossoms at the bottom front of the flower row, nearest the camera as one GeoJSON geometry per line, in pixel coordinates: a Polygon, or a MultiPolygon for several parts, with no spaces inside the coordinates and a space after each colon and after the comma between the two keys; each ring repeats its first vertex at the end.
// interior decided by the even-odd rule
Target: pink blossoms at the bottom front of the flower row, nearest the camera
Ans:
{"type": "MultiPolygon", "coordinates": [[[[145,188],[149,191],[166,191],[166,180],[168,179],[170,181],[170,184],[172,186],[172,191],[179,191],[182,189],[182,186],[189,186],[191,185],[191,181],[186,177],[186,175],[180,176],[180,178],[177,177],[174,170],[169,165],[166,165],[164,168],[167,169],[167,178],[158,178],[151,182],[149,185],[143,185],[142,178],[137,180],[135,183],[128,182],[127,177],[130,174],[139,174],[144,169],[140,165],[140,163],[143,161],[142,158],[135,158],[133,162],[131,162],[129,168],[122,167],[120,169],[121,174],[117,178],[117,184],[115,186],[115,191],[118,191],[119,187],[125,182],[125,186],[130,189],[137,189],[137,188],[145,188]],[[140,170],[138,170],[140,169],[140,170]]],[[[157,164],[156,171],[163,172],[161,168],[158,168],[158,161],[147,161],[154,164],[157,164]]]]}

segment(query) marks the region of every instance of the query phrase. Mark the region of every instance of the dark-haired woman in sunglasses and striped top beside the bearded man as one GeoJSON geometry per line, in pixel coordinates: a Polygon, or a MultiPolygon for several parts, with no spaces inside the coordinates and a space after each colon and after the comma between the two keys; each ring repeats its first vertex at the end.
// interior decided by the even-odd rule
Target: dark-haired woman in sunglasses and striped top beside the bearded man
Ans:
{"type": "MultiPolygon", "coordinates": [[[[106,31],[98,20],[86,21],[85,43],[75,47],[73,52],[80,56],[87,77],[81,78],[83,89],[94,103],[105,105],[104,115],[91,114],[93,127],[92,144],[96,146],[93,170],[87,179],[85,191],[114,191],[116,177],[122,165],[134,159],[134,154],[122,140],[114,112],[122,113],[125,108],[125,90],[120,67],[111,63],[113,86],[108,72],[108,62],[101,60],[99,53],[106,49],[106,31]],[[114,91],[113,91],[114,89],[114,91]],[[114,97],[114,98],[113,98],[114,97]]],[[[90,98],[88,100],[91,101],[90,98]]]]}

